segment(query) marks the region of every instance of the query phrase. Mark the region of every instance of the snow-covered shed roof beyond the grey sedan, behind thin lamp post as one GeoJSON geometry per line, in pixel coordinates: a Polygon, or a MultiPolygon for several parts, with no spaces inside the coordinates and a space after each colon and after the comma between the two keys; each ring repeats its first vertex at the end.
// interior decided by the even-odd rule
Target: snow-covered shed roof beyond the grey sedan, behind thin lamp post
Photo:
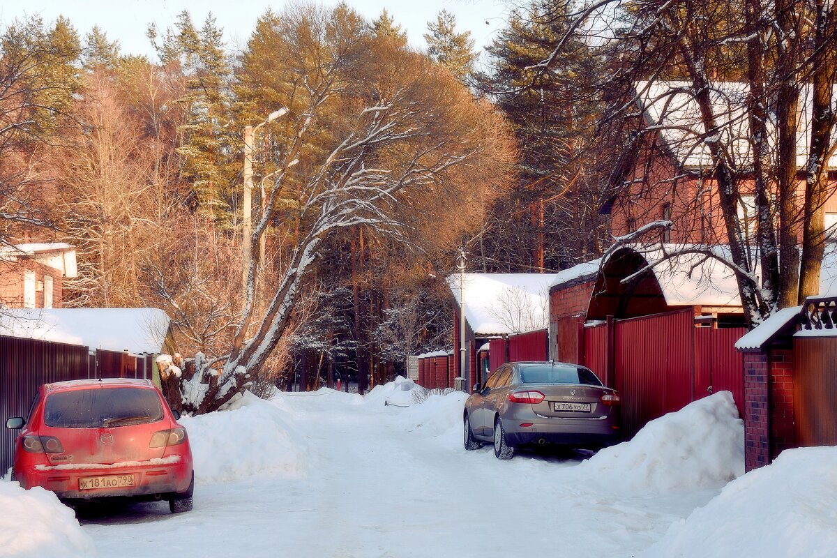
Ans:
{"type": "MultiPolygon", "coordinates": [[[[468,320],[476,335],[503,335],[546,327],[549,318],[549,286],[555,276],[465,274],[465,320],[468,320]],[[507,316],[508,310],[519,315],[507,316]],[[525,324],[514,323],[520,317],[525,324]]],[[[457,304],[461,304],[460,275],[450,275],[448,284],[457,304]]]]}

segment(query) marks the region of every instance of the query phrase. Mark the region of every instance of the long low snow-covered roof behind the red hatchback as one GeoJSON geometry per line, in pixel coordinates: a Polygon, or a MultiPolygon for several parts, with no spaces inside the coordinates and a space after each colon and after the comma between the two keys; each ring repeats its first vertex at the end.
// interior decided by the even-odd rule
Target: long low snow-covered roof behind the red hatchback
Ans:
{"type": "Polygon", "coordinates": [[[135,354],[162,352],[168,315],[157,308],[4,309],[0,335],[135,354]]]}

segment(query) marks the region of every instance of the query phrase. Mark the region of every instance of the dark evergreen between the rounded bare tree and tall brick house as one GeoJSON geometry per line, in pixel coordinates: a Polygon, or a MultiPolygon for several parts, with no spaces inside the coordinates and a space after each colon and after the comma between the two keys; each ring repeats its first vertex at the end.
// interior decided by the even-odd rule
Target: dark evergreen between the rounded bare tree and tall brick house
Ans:
{"type": "Polygon", "coordinates": [[[593,157],[582,156],[600,110],[591,87],[600,70],[580,40],[565,44],[547,69],[537,67],[567,31],[555,11],[572,7],[555,4],[512,13],[486,49],[490,70],[476,76],[511,120],[521,148],[518,187],[493,208],[482,240],[483,269],[562,269],[601,248],[603,192],[593,157]]]}

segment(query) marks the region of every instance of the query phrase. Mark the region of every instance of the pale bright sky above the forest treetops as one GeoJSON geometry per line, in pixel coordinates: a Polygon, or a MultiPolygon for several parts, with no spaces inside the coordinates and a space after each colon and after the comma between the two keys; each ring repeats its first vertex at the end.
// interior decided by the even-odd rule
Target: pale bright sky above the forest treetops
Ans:
{"type": "MultiPolygon", "coordinates": [[[[280,12],[288,3],[286,0],[0,0],[0,27],[25,16],[40,15],[52,21],[64,15],[82,35],[99,25],[110,40],[119,41],[122,54],[144,54],[156,59],[146,38],[149,23],[165,29],[186,9],[196,27],[200,27],[211,12],[218,26],[224,29],[229,48],[237,52],[247,44],[259,15],[267,8],[280,12]]],[[[347,0],[347,3],[370,19],[377,18],[386,8],[407,32],[409,44],[421,50],[426,48],[422,34],[427,32],[427,22],[435,19],[443,8],[456,16],[460,31],[471,32],[478,49],[490,43],[509,12],[508,0],[347,0]]],[[[336,2],[323,4],[331,6],[336,2]]]]}

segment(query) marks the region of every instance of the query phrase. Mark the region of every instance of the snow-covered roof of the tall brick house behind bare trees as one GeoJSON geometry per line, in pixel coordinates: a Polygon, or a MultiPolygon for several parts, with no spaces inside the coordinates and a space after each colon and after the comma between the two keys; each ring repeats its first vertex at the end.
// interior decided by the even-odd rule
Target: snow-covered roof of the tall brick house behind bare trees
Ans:
{"type": "MultiPolygon", "coordinates": [[[[683,166],[711,166],[709,146],[703,140],[706,132],[701,123],[701,111],[692,84],[687,81],[639,81],[636,84],[639,105],[645,111],[649,125],[660,126],[660,136],[683,166]]],[[[799,97],[802,107],[798,115],[797,165],[804,167],[809,149],[811,120],[810,87],[804,86],[799,97]]],[[[749,129],[747,125],[747,95],[749,86],[740,82],[713,83],[711,103],[718,130],[707,139],[717,137],[728,146],[733,164],[752,166],[749,129]]],[[[768,120],[768,142],[776,144],[776,126],[768,120]]],[[[829,158],[829,167],[837,167],[837,155],[829,158]]]]}

